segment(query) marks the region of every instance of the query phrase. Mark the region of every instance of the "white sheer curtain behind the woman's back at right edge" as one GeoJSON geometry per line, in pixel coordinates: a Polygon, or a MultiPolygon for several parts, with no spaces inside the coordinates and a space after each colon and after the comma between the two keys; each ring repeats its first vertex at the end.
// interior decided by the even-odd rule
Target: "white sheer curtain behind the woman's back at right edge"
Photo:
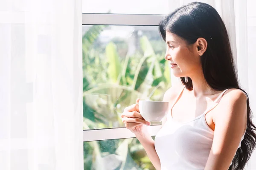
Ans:
{"type": "MultiPolygon", "coordinates": [[[[256,125],[256,2],[235,0],[237,68],[240,84],[247,91],[256,125]]],[[[256,152],[248,163],[247,170],[256,169],[256,152]]]]}

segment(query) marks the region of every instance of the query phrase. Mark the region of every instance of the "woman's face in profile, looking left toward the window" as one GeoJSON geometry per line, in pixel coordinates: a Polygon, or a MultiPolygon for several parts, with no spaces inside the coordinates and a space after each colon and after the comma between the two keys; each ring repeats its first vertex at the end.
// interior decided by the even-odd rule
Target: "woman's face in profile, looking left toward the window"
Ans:
{"type": "Polygon", "coordinates": [[[201,69],[201,61],[196,44],[187,42],[176,34],[166,31],[167,50],[165,59],[170,61],[175,77],[191,77],[201,69]]]}

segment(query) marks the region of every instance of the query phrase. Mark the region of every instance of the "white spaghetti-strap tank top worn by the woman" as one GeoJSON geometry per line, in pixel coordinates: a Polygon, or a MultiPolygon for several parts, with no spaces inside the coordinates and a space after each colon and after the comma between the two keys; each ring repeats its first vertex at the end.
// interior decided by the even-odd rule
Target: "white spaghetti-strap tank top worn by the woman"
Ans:
{"type": "MultiPolygon", "coordinates": [[[[166,115],[166,123],[155,136],[155,149],[161,170],[204,170],[214,135],[214,131],[207,125],[205,114],[218,105],[227,90],[218,96],[211,108],[189,122],[180,123],[172,119],[171,113],[166,115]]],[[[243,139],[244,136],[241,141],[243,139]]]]}

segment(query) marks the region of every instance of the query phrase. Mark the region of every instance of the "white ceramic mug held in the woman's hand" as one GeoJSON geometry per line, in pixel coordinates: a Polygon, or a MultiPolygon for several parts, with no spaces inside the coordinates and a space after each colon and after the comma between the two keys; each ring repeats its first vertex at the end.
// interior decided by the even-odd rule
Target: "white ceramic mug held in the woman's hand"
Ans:
{"type": "Polygon", "coordinates": [[[161,122],[169,111],[169,102],[139,101],[141,116],[149,122],[161,122]]]}

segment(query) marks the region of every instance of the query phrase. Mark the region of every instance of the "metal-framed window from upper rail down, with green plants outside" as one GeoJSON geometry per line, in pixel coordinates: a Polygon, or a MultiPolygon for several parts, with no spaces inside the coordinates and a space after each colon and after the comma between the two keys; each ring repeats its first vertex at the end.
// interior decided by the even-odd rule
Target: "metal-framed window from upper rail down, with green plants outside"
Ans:
{"type": "MultiPolygon", "coordinates": [[[[137,98],[162,100],[171,85],[166,45],[158,31],[162,17],[83,14],[85,170],[154,169],[120,115],[137,98]]],[[[153,139],[159,124],[147,127],[153,139]]]]}

